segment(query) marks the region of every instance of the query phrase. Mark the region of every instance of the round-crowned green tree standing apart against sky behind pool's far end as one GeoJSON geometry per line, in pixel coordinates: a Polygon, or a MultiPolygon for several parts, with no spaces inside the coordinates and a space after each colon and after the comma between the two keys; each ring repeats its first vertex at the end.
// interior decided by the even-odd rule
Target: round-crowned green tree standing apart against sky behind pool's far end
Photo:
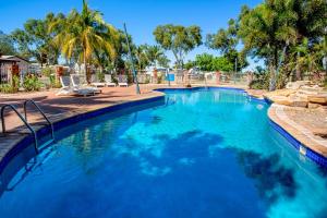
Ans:
{"type": "Polygon", "coordinates": [[[166,50],[172,51],[177,65],[183,68],[185,56],[202,45],[201,28],[192,25],[159,25],[154,31],[156,41],[166,50]]]}

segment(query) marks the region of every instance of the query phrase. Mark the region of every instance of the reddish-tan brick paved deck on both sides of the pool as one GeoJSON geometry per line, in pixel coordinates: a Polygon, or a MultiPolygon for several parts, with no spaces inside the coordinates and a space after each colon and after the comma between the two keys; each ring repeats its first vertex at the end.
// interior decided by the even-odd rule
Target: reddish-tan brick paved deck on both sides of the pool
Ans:
{"type": "MultiPolygon", "coordinates": [[[[174,85],[170,87],[175,88],[183,86],[174,85]]],[[[242,86],[235,87],[244,88],[242,86]]],[[[45,113],[52,122],[58,122],[76,114],[82,114],[113,105],[164,95],[160,92],[154,90],[155,88],[169,88],[169,86],[141,85],[141,95],[136,95],[135,86],[104,87],[101,88],[101,94],[88,97],[57,96],[56,93],[58,90],[56,89],[48,92],[20,93],[11,95],[0,94],[0,106],[3,104],[12,104],[19,109],[20,112],[22,112],[22,102],[25,99],[33,99],[40,106],[40,108],[45,111],[45,113]]],[[[263,94],[263,92],[261,90],[249,90],[249,93],[255,97],[261,97],[263,94]]],[[[303,122],[298,122],[295,119],[293,119],[290,111],[274,104],[269,109],[268,116],[272,121],[282,126],[302,144],[327,157],[327,140],[313,135],[311,125],[306,125],[303,122]]],[[[41,123],[44,123],[41,117],[35,110],[31,110],[28,112],[28,122],[31,122],[36,130],[41,128],[41,123]]],[[[16,116],[13,114],[13,112],[8,112],[5,114],[5,126],[7,131],[10,132],[8,134],[2,134],[2,130],[0,126],[0,161],[4,157],[4,155],[10,149],[12,149],[12,147],[14,147],[26,136],[26,134],[28,134],[28,130],[23,126],[23,123],[16,116]]]]}

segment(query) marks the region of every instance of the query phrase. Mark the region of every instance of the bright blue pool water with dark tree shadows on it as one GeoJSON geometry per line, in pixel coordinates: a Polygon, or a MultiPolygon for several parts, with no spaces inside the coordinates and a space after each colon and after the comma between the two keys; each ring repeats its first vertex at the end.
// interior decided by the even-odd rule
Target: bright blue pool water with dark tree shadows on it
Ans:
{"type": "Polygon", "coordinates": [[[327,217],[327,170],[271,128],[267,105],[213,89],[59,131],[2,182],[0,217],[327,217]]]}

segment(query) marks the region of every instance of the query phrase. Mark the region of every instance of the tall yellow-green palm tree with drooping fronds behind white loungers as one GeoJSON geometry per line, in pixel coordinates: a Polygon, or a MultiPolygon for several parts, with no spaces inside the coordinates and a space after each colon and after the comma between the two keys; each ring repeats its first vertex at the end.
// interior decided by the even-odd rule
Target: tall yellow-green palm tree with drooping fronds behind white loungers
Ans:
{"type": "Polygon", "coordinates": [[[62,53],[71,59],[76,51],[81,51],[78,61],[83,60],[87,82],[87,64],[95,50],[105,50],[111,58],[116,56],[117,29],[105,23],[99,11],[90,10],[85,0],[81,13],[73,10],[66,19],[55,22],[50,29],[56,26],[61,26],[55,41],[60,45],[62,53]]]}

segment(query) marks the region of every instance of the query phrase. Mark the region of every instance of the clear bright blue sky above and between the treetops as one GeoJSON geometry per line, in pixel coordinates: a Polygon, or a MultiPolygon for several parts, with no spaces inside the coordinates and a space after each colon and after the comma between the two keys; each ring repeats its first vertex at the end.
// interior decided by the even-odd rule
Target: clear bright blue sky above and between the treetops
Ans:
{"type": "MultiPolygon", "coordinates": [[[[229,19],[237,17],[241,7],[255,7],[262,0],[88,0],[92,9],[104,13],[104,19],[118,28],[123,23],[136,44],[155,44],[153,31],[160,24],[198,25],[203,36],[226,27],[229,19]]],[[[9,34],[23,27],[28,19],[43,19],[48,12],[68,13],[80,10],[82,0],[0,0],[0,29],[9,34]],[[3,17],[7,17],[5,20],[3,17]]],[[[204,46],[190,52],[186,59],[197,53],[209,52],[204,46]]],[[[167,53],[173,59],[170,52],[167,53]]],[[[254,66],[251,61],[251,68],[254,66]]]]}

